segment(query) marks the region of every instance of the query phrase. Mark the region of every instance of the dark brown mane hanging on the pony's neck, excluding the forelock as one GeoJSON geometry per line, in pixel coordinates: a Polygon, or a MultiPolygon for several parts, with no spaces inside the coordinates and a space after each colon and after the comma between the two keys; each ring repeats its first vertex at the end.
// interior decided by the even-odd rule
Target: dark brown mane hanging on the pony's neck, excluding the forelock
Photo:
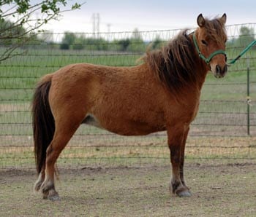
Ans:
{"type": "Polygon", "coordinates": [[[148,50],[143,60],[169,90],[177,91],[196,81],[193,46],[184,30],[162,50],[148,50]]]}

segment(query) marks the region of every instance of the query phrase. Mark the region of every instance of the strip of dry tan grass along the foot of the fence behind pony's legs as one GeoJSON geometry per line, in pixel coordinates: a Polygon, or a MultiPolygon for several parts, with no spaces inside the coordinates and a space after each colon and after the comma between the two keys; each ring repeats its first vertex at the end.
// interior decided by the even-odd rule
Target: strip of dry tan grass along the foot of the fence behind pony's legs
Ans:
{"type": "MultiPolygon", "coordinates": [[[[138,167],[142,165],[165,165],[170,162],[166,137],[151,138],[101,135],[90,141],[89,135],[74,136],[58,159],[60,168],[80,167],[138,167]],[[83,141],[84,143],[81,143],[83,141]]],[[[256,159],[255,137],[217,138],[189,137],[186,162],[251,162],[256,159]]],[[[23,141],[26,141],[23,138],[23,141]]],[[[33,144],[26,146],[2,146],[0,168],[33,168],[33,144]]],[[[216,163],[215,162],[215,163],[216,163]]]]}

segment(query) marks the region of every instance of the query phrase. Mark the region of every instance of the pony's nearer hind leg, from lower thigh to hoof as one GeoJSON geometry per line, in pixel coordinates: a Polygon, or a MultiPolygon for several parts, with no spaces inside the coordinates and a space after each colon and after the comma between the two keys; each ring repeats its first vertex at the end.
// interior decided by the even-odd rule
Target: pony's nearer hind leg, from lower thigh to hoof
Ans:
{"type": "Polygon", "coordinates": [[[65,117],[59,121],[56,119],[56,131],[50,146],[46,151],[45,161],[45,181],[42,183],[41,191],[44,199],[60,200],[59,194],[56,192],[54,184],[54,173],[56,160],[61,151],[69,142],[72,135],[78,129],[80,121],[75,121],[74,117],[65,117]]]}

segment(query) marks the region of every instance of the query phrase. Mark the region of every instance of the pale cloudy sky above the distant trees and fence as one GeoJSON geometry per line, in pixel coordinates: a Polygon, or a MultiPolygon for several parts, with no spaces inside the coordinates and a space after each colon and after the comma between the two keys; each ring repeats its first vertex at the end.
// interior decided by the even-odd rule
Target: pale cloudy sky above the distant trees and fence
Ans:
{"type": "Polygon", "coordinates": [[[139,31],[195,28],[197,15],[212,18],[227,14],[227,25],[256,23],[255,0],[72,0],[70,5],[84,3],[81,9],[64,12],[59,21],[52,20],[45,29],[93,32],[93,15],[99,14],[99,31],[139,31]]]}

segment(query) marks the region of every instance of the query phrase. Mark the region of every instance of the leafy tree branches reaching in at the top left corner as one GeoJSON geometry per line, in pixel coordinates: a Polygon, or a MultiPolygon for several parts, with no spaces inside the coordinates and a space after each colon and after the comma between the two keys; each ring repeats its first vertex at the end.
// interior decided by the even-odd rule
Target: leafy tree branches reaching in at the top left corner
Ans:
{"type": "Polygon", "coordinates": [[[1,0],[0,6],[10,6],[4,12],[0,8],[0,46],[5,46],[4,53],[0,54],[0,63],[3,60],[23,52],[14,53],[18,48],[34,39],[34,36],[39,33],[39,29],[50,20],[56,19],[64,12],[69,12],[74,9],[79,9],[83,4],[75,3],[71,9],[60,10],[59,4],[64,7],[67,5],[67,0],[41,0],[36,4],[31,4],[31,0],[1,0]],[[32,17],[36,12],[42,15],[39,19],[32,17]],[[12,18],[12,19],[10,19],[12,18]],[[12,22],[10,20],[15,21],[12,22]],[[33,36],[31,35],[33,33],[33,36]],[[10,45],[11,44],[11,45],[10,45]]]}

